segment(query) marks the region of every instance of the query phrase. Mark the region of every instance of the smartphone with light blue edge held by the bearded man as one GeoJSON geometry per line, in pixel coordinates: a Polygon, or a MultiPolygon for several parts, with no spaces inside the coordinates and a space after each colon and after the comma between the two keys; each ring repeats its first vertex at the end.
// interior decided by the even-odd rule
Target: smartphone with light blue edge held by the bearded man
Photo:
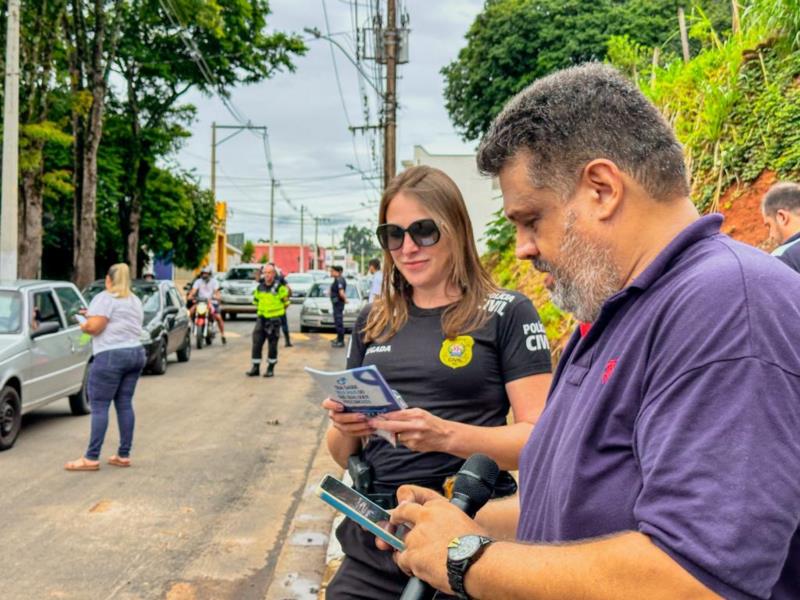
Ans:
{"type": "Polygon", "coordinates": [[[405,528],[392,531],[388,512],[335,477],[326,475],[322,478],[317,486],[317,496],[392,548],[401,552],[406,549],[402,540],[405,528]]]}

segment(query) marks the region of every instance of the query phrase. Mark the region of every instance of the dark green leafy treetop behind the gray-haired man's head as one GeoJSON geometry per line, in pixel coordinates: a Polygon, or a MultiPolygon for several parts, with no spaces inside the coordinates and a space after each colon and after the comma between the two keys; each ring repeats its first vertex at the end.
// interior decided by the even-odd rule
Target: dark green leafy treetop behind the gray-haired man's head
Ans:
{"type": "MultiPolygon", "coordinates": [[[[442,69],[445,104],[465,140],[486,131],[505,103],[535,79],[570,65],[603,60],[612,35],[662,55],[679,51],[679,0],[488,0],[467,45],[442,69]]],[[[697,3],[695,3],[697,4],[697,3]]],[[[730,27],[730,3],[705,0],[717,29],[730,27]]],[[[698,14],[690,12],[690,21],[698,14]]]]}

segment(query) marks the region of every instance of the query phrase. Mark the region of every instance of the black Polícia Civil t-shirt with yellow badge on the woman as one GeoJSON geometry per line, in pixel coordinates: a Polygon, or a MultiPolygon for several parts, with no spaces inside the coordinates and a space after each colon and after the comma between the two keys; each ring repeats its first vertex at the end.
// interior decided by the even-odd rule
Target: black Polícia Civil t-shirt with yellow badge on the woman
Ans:
{"type": "MultiPolygon", "coordinates": [[[[423,408],[449,421],[484,427],[506,425],[510,408],[505,384],[549,373],[550,347],[536,309],[524,295],[501,290],[483,309],[490,313],[480,329],[445,339],[445,307],[409,308],[408,321],[391,339],[364,344],[371,305],[359,315],[347,368],[375,365],[409,408],[423,408]],[[359,332],[356,334],[356,332],[359,332]]],[[[413,452],[372,436],[364,449],[380,484],[399,485],[447,477],[464,459],[440,452],[413,452]]]]}

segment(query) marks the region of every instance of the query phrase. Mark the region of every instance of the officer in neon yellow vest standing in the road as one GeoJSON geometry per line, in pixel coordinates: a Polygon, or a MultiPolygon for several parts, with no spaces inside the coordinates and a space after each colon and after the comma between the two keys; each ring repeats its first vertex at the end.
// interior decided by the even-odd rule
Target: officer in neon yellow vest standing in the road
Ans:
{"type": "Polygon", "coordinates": [[[258,306],[255,329],[253,329],[253,365],[247,372],[249,377],[259,374],[261,353],[264,342],[268,342],[267,372],[264,377],[275,374],[275,364],[278,362],[278,340],[281,335],[281,317],[286,314],[286,305],[289,302],[289,290],[277,280],[275,267],[264,267],[264,279],[259,281],[258,287],[253,290],[253,303],[258,306]]]}

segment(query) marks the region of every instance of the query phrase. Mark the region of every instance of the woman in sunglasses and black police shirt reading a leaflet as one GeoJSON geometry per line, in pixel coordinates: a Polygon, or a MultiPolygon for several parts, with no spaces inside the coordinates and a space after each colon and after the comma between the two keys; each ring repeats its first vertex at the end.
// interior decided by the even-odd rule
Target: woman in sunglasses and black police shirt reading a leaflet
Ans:
{"type": "MultiPolygon", "coordinates": [[[[536,310],[492,282],[461,192],[444,172],[417,166],[395,177],[379,221],[383,288],[356,322],[347,367],[376,365],[409,408],[378,423],[329,398],[322,406],[333,458],[359,469],[362,491],[391,509],[400,485],[442,491],[476,452],[516,469],[544,407],[551,365],[536,310]],[[377,426],[397,435],[396,447],[372,435],[377,426]]],[[[501,493],[513,493],[508,474],[504,481],[501,493]]],[[[346,558],[328,600],[401,594],[407,577],[374,536],[348,520],[337,536],[346,558]]]]}

